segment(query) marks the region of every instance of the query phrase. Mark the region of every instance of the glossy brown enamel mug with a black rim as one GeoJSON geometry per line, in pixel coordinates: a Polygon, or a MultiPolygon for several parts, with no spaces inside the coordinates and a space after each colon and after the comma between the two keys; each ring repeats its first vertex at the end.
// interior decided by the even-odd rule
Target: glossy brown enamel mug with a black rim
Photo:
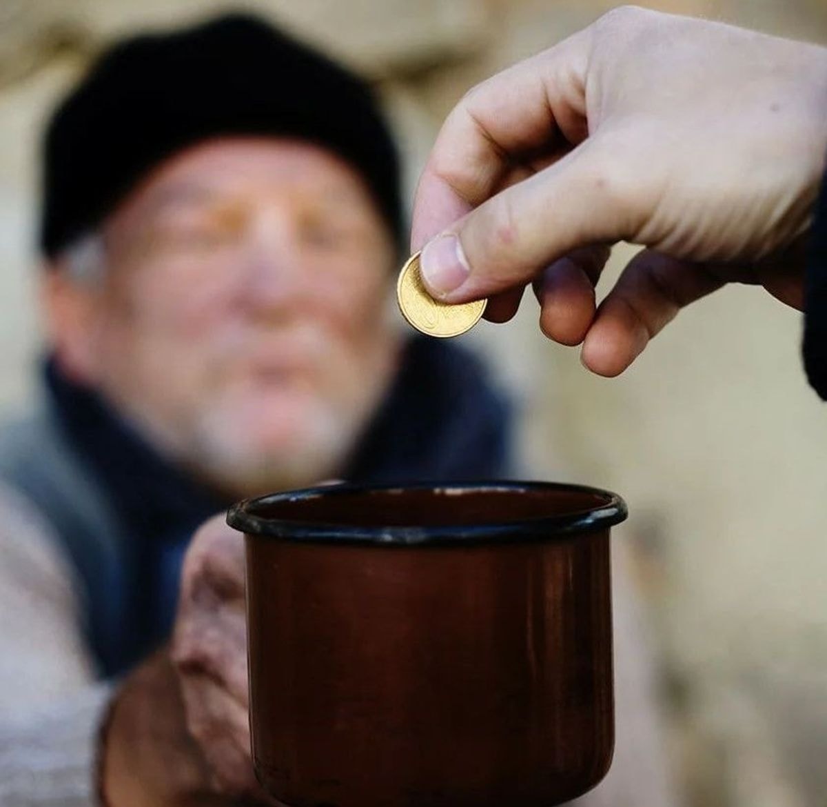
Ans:
{"type": "Polygon", "coordinates": [[[252,757],[294,807],[551,807],[614,747],[613,493],[277,493],[246,534],[252,757]]]}

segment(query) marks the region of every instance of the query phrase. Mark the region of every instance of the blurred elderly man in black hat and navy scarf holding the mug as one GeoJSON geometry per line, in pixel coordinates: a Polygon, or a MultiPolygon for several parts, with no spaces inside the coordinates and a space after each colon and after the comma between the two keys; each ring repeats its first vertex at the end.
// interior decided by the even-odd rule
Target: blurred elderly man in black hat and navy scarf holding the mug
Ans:
{"type": "Polygon", "coordinates": [[[198,526],[506,472],[480,365],[386,314],[398,173],[365,85],[248,17],[124,41],[55,113],[45,401],[0,438],[4,807],[260,797],[241,544],[198,526]]]}

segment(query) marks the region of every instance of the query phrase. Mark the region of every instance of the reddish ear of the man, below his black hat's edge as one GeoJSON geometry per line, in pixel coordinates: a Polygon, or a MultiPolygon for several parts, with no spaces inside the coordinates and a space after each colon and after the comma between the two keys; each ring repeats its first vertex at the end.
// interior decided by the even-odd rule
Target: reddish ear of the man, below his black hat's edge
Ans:
{"type": "Polygon", "coordinates": [[[93,385],[99,371],[101,291],[74,279],[60,259],[44,267],[41,278],[41,309],[55,361],[70,380],[93,385]]]}

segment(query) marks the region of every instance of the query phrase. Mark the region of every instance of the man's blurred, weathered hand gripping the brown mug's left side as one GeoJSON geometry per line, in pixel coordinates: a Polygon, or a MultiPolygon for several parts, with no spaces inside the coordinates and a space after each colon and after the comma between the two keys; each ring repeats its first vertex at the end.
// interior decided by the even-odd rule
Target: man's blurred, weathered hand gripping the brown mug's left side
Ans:
{"type": "Polygon", "coordinates": [[[106,732],[111,807],[266,803],[250,757],[244,540],[218,516],[184,560],[168,651],[127,678],[106,732]]]}

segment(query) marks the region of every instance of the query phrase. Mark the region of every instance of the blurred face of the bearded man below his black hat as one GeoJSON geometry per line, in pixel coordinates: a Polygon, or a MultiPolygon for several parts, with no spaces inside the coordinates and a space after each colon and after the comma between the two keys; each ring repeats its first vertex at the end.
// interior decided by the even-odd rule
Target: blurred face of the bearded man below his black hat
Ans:
{"type": "Polygon", "coordinates": [[[339,473],[395,358],[393,246],[356,171],[303,142],[208,142],[102,235],[103,278],[67,292],[83,328],[55,318],[58,361],[227,492],[339,473]]]}

